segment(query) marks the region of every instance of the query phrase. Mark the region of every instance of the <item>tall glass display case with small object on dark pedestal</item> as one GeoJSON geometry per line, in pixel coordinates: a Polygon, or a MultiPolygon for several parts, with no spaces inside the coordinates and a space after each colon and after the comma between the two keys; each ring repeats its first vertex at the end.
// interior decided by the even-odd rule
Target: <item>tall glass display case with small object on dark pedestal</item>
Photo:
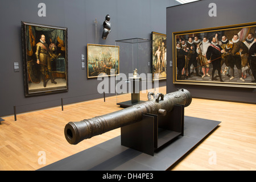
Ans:
{"type": "Polygon", "coordinates": [[[147,101],[147,93],[158,87],[152,82],[152,40],[115,40],[119,47],[119,75],[115,77],[117,105],[128,107],[147,101]]]}

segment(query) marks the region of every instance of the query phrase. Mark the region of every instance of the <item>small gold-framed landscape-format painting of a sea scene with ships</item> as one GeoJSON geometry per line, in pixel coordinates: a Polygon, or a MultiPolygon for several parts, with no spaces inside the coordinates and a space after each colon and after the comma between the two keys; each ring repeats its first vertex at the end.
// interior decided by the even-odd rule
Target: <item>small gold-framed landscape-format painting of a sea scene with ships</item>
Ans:
{"type": "Polygon", "coordinates": [[[119,46],[87,44],[87,77],[119,75],[119,46]]]}

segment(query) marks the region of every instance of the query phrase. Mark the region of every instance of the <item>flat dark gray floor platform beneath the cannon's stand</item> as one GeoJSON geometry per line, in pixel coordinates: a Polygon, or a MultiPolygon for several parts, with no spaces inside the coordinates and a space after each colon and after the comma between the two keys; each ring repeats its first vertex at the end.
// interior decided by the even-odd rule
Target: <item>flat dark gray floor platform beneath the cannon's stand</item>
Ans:
{"type": "Polygon", "coordinates": [[[121,137],[118,136],[38,170],[164,171],[179,162],[220,123],[185,116],[184,136],[155,152],[154,156],[121,146],[121,137]]]}

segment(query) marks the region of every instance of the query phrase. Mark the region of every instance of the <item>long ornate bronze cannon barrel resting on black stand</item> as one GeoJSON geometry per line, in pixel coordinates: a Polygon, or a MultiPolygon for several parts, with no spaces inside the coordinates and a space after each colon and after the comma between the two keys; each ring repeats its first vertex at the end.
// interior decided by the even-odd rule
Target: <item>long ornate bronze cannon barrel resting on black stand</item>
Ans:
{"type": "Polygon", "coordinates": [[[113,113],[84,119],[79,122],[69,122],[64,129],[65,138],[70,144],[77,144],[84,139],[92,138],[107,131],[117,129],[142,120],[143,114],[165,115],[175,104],[189,106],[192,101],[191,93],[186,89],[163,94],[148,93],[148,101],[127,107],[113,113]],[[155,98],[150,100],[149,95],[155,98]]]}

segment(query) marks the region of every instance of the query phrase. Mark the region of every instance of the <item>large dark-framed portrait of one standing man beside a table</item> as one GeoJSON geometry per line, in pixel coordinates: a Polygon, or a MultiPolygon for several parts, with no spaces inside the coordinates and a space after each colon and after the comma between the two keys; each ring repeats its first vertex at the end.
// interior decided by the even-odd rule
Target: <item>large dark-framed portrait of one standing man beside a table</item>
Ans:
{"type": "Polygon", "coordinates": [[[67,28],[22,22],[25,96],[67,92],[67,28]]]}

